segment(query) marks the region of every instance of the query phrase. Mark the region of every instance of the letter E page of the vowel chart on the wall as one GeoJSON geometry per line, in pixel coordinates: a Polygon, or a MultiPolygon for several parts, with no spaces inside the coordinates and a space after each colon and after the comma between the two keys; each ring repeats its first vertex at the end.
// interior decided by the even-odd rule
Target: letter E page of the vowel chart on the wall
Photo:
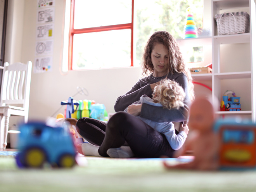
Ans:
{"type": "Polygon", "coordinates": [[[55,9],[53,7],[37,10],[37,24],[54,22],[55,9]]]}

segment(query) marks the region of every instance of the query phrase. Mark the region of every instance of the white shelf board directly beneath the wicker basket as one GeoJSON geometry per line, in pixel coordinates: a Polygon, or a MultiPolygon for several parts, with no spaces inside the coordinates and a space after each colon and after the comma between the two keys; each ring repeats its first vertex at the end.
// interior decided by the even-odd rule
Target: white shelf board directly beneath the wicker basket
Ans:
{"type": "Polygon", "coordinates": [[[232,35],[215,35],[213,39],[219,44],[250,43],[250,33],[232,34],[232,35]]]}

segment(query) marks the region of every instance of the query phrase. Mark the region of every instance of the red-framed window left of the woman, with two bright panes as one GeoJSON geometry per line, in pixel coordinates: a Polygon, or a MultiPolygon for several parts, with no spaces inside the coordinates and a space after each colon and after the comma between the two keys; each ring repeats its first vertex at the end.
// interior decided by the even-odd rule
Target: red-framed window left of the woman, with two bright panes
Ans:
{"type": "Polygon", "coordinates": [[[69,69],[133,66],[133,0],[71,3],[69,69]]]}

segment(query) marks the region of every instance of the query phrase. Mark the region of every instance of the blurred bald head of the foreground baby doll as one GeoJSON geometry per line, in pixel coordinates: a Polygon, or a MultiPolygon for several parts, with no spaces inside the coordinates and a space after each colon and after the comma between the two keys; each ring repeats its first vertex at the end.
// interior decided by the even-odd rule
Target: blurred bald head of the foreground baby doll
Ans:
{"type": "Polygon", "coordinates": [[[205,98],[195,99],[190,107],[189,128],[199,132],[208,132],[213,129],[214,108],[205,98]]]}

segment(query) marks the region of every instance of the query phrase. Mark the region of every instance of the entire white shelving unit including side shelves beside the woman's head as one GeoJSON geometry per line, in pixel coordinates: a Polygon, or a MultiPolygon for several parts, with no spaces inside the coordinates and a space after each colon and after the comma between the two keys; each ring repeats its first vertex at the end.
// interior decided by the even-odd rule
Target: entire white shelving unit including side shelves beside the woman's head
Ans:
{"type": "MultiPolygon", "coordinates": [[[[212,15],[212,36],[202,37],[202,38],[191,38],[191,39],[178,39],[180,46],[187,45],[212,45],[212,63],[213,63],[213,72],[212,74],[193,74],[192,77],[194,81],[211,81],[212,83],[212,94],[214,105],[219,105],[221,98],[223,96],[223,90],[229,90],[230,87],[227,86],[226,81],[229,83],[234,81],[241,81],[242,86],[239,85],[235,89],[243,90],[240,96],[241,99],[246,101],[247,106],[241,106],[241,111],[217,111],[217,115],[228,115],[228,116],[245,116],[251,117],[251,119],[256,122],[256,6],[254,0],[212,0],[211,2],[211,15],[212,15]],[[242,11],[244,9],[249,10],[247,12],[250,15],[250,33],[243,34],[232,34],[232,35],[218,35],[217,34],[217,25],[215,21],[215,14],[223,13],[232,10],[242,11]],[[234,70],[223,71],[223,65],[231,65],[232,62],[225,60],[225,63],[221,61],[221,46],[225,44],[230,44],[230,49],[237,46],[249,46],[250,53],[248,54],[250,58],[246,58],[249,62],[241,63],[244,65],[244,71],[240,68],[237,69],[237,72],[234,70]],[[236,45],[235,45],[236,44],[236,45]],[[254,55],[255,56],[254,56],[254,55]],[[222,67],[222,68],[221,68],[222,67]],[[249,70],[248,70],[249,69],[249,70]],[[243,84],[244,83],[244,84],[243,84]],[[227,86],[227,87],[225,87],[227,86]],[[248,99],[249,98],[249,99],[248,99]]],[[[241,56],[245,57],[245,56],[241,56]]],[[[232,69],[232,67],[230,67],[232,69]]],[[[225,67],[227,69],[227,66],[225,67]]],[[[233,90],[235,91],[235,90],[233,90]]]]}

